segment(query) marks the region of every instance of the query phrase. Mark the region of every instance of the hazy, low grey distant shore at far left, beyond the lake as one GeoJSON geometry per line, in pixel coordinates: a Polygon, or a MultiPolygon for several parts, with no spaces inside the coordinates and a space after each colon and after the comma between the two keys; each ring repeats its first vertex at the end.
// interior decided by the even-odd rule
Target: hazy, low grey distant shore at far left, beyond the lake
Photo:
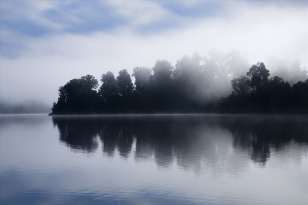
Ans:
{"type": "Polygon", "coordinates": [[[23,103],[10,103],[1,100],[0,114],[39,114],[50,113],[50,106],[39,101],[25,101],[23,103]]]}

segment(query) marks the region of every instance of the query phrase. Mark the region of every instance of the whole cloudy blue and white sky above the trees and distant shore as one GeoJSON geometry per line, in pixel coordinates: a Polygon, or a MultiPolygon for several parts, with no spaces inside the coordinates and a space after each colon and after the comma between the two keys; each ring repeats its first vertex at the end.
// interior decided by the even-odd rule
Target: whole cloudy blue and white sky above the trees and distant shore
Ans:
{"type": "Polygon", "coordinates": [[[308,67],[308,1],[0,1],[0,98],[51,107],[73,78],[211,49],[308,67]]]}

